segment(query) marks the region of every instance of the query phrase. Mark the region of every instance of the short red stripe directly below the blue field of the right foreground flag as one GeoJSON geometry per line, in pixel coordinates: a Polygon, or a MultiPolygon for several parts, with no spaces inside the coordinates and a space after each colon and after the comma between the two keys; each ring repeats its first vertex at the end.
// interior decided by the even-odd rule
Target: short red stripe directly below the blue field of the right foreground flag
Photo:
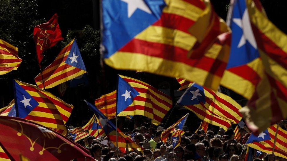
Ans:
{"type": "Polygon", "coordinates": [[[248,67],[247,65],[229,68],[228,71],[248,80],[249,82],[251,82],[255,86],[261,80],[261,77],[251,67],[248,67]],[[244,71],[244,72],[242,72],[242,71],[244,71]]]}

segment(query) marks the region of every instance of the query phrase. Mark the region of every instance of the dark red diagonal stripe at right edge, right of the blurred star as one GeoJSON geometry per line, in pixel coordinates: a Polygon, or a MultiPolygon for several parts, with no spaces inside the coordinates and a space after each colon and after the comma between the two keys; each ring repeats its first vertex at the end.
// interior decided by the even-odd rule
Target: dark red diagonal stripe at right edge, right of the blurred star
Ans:
{"type": "Polygon", "coordinates": [[[285,69],[287,68],[287,53],[270,40],[264,33],[251,23],[258,48],[263,50],[272,60],[275,60],[285,69]]]}

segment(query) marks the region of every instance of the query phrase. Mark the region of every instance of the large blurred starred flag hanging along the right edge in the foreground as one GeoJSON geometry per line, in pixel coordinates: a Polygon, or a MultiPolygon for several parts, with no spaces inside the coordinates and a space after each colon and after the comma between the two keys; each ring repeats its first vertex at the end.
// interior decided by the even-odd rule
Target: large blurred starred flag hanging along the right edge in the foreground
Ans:
{"type": "Polygon", "coordinates": [[[240,51],[231,47],[228,67],[243,67],[237,70],[239,76],[227,75],[227,79],[232,79],[231,89],[249,99],[242,113],[248,128],[258,134],[287,118],[287,35],[268,20],[260,1],[236,1],[233,6],[231,25],[243,28],[243,34],[233,35],[239,37],[234,48],[240,51]]]}

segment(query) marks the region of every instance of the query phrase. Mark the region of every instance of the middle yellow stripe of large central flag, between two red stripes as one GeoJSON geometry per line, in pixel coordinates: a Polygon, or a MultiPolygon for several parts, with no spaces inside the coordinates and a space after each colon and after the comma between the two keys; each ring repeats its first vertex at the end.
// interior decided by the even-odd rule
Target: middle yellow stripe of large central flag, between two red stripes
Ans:
{"type": "Polygon", "coordinates": [[[176,46],[184,50],[191,50],[196,38],[180,30],[161,26],[149,26],[135,36],[135,39],[176,46]]]}

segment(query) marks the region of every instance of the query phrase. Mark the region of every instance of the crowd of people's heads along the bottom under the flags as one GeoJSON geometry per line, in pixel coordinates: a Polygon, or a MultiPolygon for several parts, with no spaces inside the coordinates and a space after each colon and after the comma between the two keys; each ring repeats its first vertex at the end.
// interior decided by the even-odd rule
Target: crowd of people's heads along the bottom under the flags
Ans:
{"type": "MultiPolygon", "coordinates": [[[[98,138],[89,136],[80,140],[79,143],[88,149],[91,156],[98,161],[242,161],[246,152],[244,144],[251,135],[246,126],[239,129],[241,137],[238,141],[234,139],[232,128],[224,131],[219,127],[216,133],[211,130],[206,133],[203,130],[192,133],[187,126],[184,126],[185,133],[181,136],[180,145],[173,149],[171,135],[166,143],[160,138],[163,127],[158,126],[154,129],[147,125],[143,123],[140,127],[135,126],[133,131],[124,129],[125,134],[139,144],[142,150],[117,148],[106,136],[98,138]],[[103,143],[104,140],[106,142],[103,143]]],[[[256,153],[257,150],[252,150],[254,151],[252,159],[256,161],[286,160],[276,158],[273,154],[256,153]]]]}

